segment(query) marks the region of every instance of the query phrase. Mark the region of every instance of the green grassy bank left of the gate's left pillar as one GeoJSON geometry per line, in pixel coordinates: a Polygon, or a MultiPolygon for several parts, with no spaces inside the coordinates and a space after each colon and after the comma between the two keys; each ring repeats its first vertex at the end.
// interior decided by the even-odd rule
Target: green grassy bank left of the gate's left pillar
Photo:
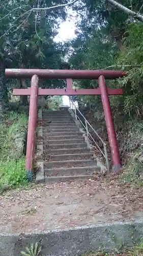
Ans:
{"type": "Polygon", "coordinates": [[[24,140],[28,118],[24,113],[10,112],[0,116],[0,190],[27,184],[24,140]]]}

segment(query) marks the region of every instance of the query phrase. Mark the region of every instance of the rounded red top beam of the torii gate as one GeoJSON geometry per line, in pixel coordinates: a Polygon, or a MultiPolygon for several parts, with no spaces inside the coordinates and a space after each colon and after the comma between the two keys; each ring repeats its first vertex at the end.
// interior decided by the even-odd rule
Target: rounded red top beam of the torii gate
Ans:
{"type": "Polygon", "coordinates": [[[52,70],[52,69],[6,69],[8,78],[31,78],[37,75],[39,78],[47,79],[117,79],[126,76],[127,73],[115,70],[52,70]]]}

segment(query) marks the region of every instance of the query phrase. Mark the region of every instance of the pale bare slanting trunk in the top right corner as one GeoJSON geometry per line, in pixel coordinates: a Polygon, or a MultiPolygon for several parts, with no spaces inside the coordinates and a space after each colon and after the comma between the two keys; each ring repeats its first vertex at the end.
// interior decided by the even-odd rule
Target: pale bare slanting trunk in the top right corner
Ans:
{"type": "Polygon", "coordinates": [[[110,4],[112,4],[113,6],[118,7],[120,10],[122,10],[123,12],[133,16],[135,19],[139,20],[140,22],[143,22],[143,16],[139,13],[136,13],[134,11],[131,11],[130,9],[128,9],[127,7],[119,4],[118,2],[116,2],[115,0],[108,0],[108,2],[110,4]]]}

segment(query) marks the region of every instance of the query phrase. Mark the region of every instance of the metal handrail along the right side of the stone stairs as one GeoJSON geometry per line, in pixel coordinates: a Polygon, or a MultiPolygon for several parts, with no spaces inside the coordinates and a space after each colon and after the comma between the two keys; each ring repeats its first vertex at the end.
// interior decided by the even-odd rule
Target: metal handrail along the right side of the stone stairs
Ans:
{"type": "MultiPolygon", "coordinates": [[[[86,133],[87,133],[87,136],[94,141],[95,145],[98,147],[99,151],[101,152],[101,154],[103,155],[103,157],[105,158],[105,161],[106,161],[106,168],[107,168],[107,171],[108,173],[110,172],[110,168],[109,168],[109,161],[108,161],[108,156],[107,156],[107,148],[106,148],[106,143],[102,140],[102,138],[99,136],[99,134],[95,131],[95,129],[93,128],[93,126],[88,122],[88,120],[82,115],[82,113],[79,111],[79,109],[76,107],[76,105],[73,103],[73,101],[70,100],[70,108],[71,108],[71,103],[72,105],[74,105],[74,108],[75,109],[72,109],[74,114],[75,114],[75,119],[79,120],[79,122],[82,124],[82,126],[84,127],[86,133]],[[84,123],[80,120],[79,116],[77,115],[77,111],[79,112],[79,114],[83,117],[84,121],[85,121],[85,125],[84,123]],[[103,144],[103,148],[104,148],[104,152],[101,150],[100,146],[97,144],[97,142],[95,141],[95,139],[93,138],[93,136],[91,135],[91,133],[89,132],[89,127],[88,125],[90,126],[90,128],[94,131],[94,133],[96,134],[96,136],[100,139],[100,141],[102,142],[103,144]]],[[[96,147],[94,145],[92,145],[93,147],[96,147]]]]}

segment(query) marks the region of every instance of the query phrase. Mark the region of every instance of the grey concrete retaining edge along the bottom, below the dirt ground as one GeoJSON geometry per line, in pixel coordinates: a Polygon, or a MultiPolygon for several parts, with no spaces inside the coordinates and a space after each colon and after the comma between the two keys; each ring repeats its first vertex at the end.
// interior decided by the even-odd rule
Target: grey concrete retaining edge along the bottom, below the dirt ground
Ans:
{"type": "Polygon", "coordinates": [[[0,234],[0,255],[20,256],[25,246],[39,242],[43,256],[81,256],[88,251],[119,251],[143,236],[143,219],[51,230],[30,234],[0,234]]]}

